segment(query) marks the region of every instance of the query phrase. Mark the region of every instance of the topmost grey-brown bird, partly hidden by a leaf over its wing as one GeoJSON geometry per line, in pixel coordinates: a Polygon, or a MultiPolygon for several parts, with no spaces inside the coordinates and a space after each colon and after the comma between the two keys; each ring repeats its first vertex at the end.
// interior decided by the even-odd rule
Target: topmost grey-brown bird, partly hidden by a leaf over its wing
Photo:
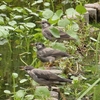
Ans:
{"type": "Polygon", "coordinates": [[[57,29],[58,32],[60,33],[60,37],[59,38],[54,37],[52,35],[52,33],[50,32],[50,29],[52,28],[52,26],[46,20],[41,21],[41,25],[42,25],[43,36],[50,41],[62,42],[64,40],[65,41],[66,40],[75,40],[73,37],[71,37],[70,35],[68,35],[67,33],[65,33],[64,31],[62,31],[60,29],[57,29]]]}

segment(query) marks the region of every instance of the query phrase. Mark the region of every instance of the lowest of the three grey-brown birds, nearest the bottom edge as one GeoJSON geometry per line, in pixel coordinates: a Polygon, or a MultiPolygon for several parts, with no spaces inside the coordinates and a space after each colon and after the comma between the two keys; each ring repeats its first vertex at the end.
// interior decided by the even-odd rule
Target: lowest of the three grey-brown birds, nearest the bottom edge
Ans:
{"type": "Polygon", "coordinates": [[[51,86],[61,85],[67,82],[72,83],[72,80],[62,78],[49,70],[35,69],[33,66],[23,66],[22,70],[25,70],[35,82],[42,86],[48,86],[49,89],[51,86]]]}

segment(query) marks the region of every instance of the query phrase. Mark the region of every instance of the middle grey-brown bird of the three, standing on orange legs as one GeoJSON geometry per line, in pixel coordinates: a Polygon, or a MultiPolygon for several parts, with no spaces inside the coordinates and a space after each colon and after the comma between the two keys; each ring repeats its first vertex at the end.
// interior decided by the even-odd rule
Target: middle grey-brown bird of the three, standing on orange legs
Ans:
{"type": "Polygon", "coordinates": [[[37,49],[37,58],[40,59],[42,62],[49,62],[49,66],[52,65],[52,63],[61,58],[61,57],[71,57],[66,52],[56,50],[50,47],[46,47],[43,43],[37,42],[35,43],[36,49],[37,49]]]}

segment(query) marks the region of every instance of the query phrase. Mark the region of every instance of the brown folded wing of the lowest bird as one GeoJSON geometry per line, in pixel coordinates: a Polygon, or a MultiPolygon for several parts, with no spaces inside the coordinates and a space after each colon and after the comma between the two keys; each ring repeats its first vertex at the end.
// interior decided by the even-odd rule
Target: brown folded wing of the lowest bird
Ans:
{"type": "Polygon", "coordinates": [[[34,69],[33,71],[38,78],[41,78],[44,80],[56,81],[60,79],[59,76],[57,76],[54,73],[51,73],[50,71],[40,70],[40,69],[34,69]]]}

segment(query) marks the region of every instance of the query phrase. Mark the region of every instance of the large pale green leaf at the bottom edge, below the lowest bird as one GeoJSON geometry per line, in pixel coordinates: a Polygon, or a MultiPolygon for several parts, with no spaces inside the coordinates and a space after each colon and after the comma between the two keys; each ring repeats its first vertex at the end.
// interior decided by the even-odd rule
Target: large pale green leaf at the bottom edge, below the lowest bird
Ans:
{"type": "Polygon", "coordinates": [[[34,96],[36,99],[47,98],[50,97],[50,91],[47,87],[39,86],[36,88],[34,96]]]}

